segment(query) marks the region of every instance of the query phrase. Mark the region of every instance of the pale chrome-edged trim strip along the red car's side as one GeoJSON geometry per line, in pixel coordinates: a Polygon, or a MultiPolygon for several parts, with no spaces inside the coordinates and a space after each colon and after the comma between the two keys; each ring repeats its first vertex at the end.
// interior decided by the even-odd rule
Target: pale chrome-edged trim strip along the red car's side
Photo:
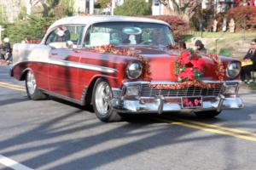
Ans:
{"type": "MultiPolygon", "coordinates": [[[[65,60],[61,60],[61,59],[49,59],[47,61],[25,60],[25,61],[18,62],[15,65],[19,65],[21,63],[30,63],[30,62],[38,62],[38,63],[52,64],[52,65],[63,65],[63,66],[79,68],[79,69],[84,69],[84,70],[89,70],[89,71],[100,71],[100,72],[104,72],[104,73],[118,73],[118,71],[116,69],[109,68],[109,67],[77,63],[77,62],[65,61],[65,60]]],[[[15,67],[15,65],[13,67],[15,67]]]]}

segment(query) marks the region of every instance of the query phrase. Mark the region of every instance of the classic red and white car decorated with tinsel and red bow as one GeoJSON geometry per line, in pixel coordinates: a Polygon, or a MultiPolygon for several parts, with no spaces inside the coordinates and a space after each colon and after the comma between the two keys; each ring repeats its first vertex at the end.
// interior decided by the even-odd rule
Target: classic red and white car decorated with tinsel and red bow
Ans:
{"type": "Polygon", "coordinates": [[[125,113],[213,117],[243,106],[238,60],[174,47],[160,20],[68,17],[55,21],[40,44],[15,44],[10,74],[26,81],[30,99],[92,104],[103,122],[125,113]]]}

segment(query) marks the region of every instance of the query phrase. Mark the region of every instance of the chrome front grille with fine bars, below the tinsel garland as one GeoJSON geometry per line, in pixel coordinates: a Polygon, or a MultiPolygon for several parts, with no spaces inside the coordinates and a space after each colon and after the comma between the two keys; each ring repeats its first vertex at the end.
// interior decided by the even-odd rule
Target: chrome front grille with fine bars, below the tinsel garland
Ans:
{"type": "Polygon", "coordinates": [[[177,90],[163,90],[151,88],[149,84],[143,84],[141,90],[142,97],[154,97],[162,95],[164,97],[177,97],[177,96],[218,96],[223,93],[222,86],[219,88],[181,88],[177,90]]]}

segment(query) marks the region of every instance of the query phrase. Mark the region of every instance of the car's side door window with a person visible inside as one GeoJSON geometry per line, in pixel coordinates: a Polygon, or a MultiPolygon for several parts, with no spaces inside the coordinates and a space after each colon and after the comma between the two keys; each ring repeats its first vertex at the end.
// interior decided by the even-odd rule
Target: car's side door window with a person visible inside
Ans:
{"type": "Polygon", "coordinates": [[[45,44],[52,48],[78,48],[83,33],[84,26],[59,26],[49,33],[45,44]]]}

